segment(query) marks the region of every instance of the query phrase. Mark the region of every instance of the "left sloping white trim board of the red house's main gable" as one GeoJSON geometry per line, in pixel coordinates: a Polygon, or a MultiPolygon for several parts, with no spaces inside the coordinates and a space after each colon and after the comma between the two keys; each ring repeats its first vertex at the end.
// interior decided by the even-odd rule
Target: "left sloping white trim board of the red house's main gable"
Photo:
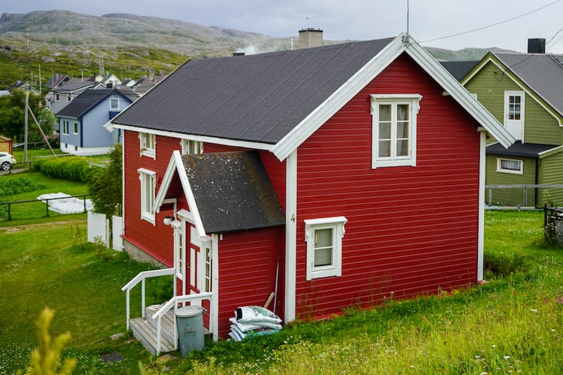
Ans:
{"type": "Polygon", "coordinates": [[[367,62],[350,79],[336,89],[320,106],[315,108],[305,117],[291,132],[286,134],[271,151],[279,160],[287,158],[293,150],[301,145],[305,139],[317,131],[324,122],[327,122],[336,112],[338,112],[351,98],[358,94],[374,77],[377,77],[387,65],[395,60],[400,53],[405,51],[402,42],[403,35],[399,35],[392,42],[387,44],[384,49],[379,51],[370,61],[367,62]]]}

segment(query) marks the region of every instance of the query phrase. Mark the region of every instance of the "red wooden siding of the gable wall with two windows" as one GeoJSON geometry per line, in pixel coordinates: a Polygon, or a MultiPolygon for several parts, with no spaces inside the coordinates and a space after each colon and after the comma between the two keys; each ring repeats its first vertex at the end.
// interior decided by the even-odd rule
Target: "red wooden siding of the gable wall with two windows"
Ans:
{"type": "Polygon", "coordinates": [[[298,317],[476,281],[477,124],[400,56],[298,148],[298,317]],[[417,166],[372,170],[369,94],[421,94],[417,166]],[[305,281],[303,220],[346,216],[342,277],[305,281]]]}

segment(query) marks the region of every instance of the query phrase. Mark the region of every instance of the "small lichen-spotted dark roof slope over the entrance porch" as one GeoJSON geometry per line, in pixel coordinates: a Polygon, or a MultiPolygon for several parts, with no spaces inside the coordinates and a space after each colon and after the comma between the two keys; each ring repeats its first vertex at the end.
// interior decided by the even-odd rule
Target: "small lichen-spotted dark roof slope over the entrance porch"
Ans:
{"type": "Polygon", "coordinates": [[[183,155],[207,233],[275,227],[284,211],[255,151],[183,155]]]}

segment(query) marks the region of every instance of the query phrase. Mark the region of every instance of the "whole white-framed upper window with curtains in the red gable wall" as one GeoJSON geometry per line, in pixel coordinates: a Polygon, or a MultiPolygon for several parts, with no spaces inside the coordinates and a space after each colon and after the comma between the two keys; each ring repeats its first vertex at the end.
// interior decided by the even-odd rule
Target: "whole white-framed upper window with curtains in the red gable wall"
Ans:
{"type": "Polygon", "coordinates": [[[418,94],[372,94],[372,168],[417,163],[418,94]]]}

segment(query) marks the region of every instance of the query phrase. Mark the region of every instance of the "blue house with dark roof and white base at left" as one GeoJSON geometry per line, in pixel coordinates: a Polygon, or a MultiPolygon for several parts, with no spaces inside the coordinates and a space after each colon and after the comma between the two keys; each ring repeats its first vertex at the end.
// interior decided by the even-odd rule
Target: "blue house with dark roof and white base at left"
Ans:
{"type": "Polygon", "coordinates": [[[128,87],[119,89],[87,89],[56,113],[61,132],[61,151],[75,155],[108,153],[119,141],[120,134],[103,129],[138,95],[128,87]]]}

